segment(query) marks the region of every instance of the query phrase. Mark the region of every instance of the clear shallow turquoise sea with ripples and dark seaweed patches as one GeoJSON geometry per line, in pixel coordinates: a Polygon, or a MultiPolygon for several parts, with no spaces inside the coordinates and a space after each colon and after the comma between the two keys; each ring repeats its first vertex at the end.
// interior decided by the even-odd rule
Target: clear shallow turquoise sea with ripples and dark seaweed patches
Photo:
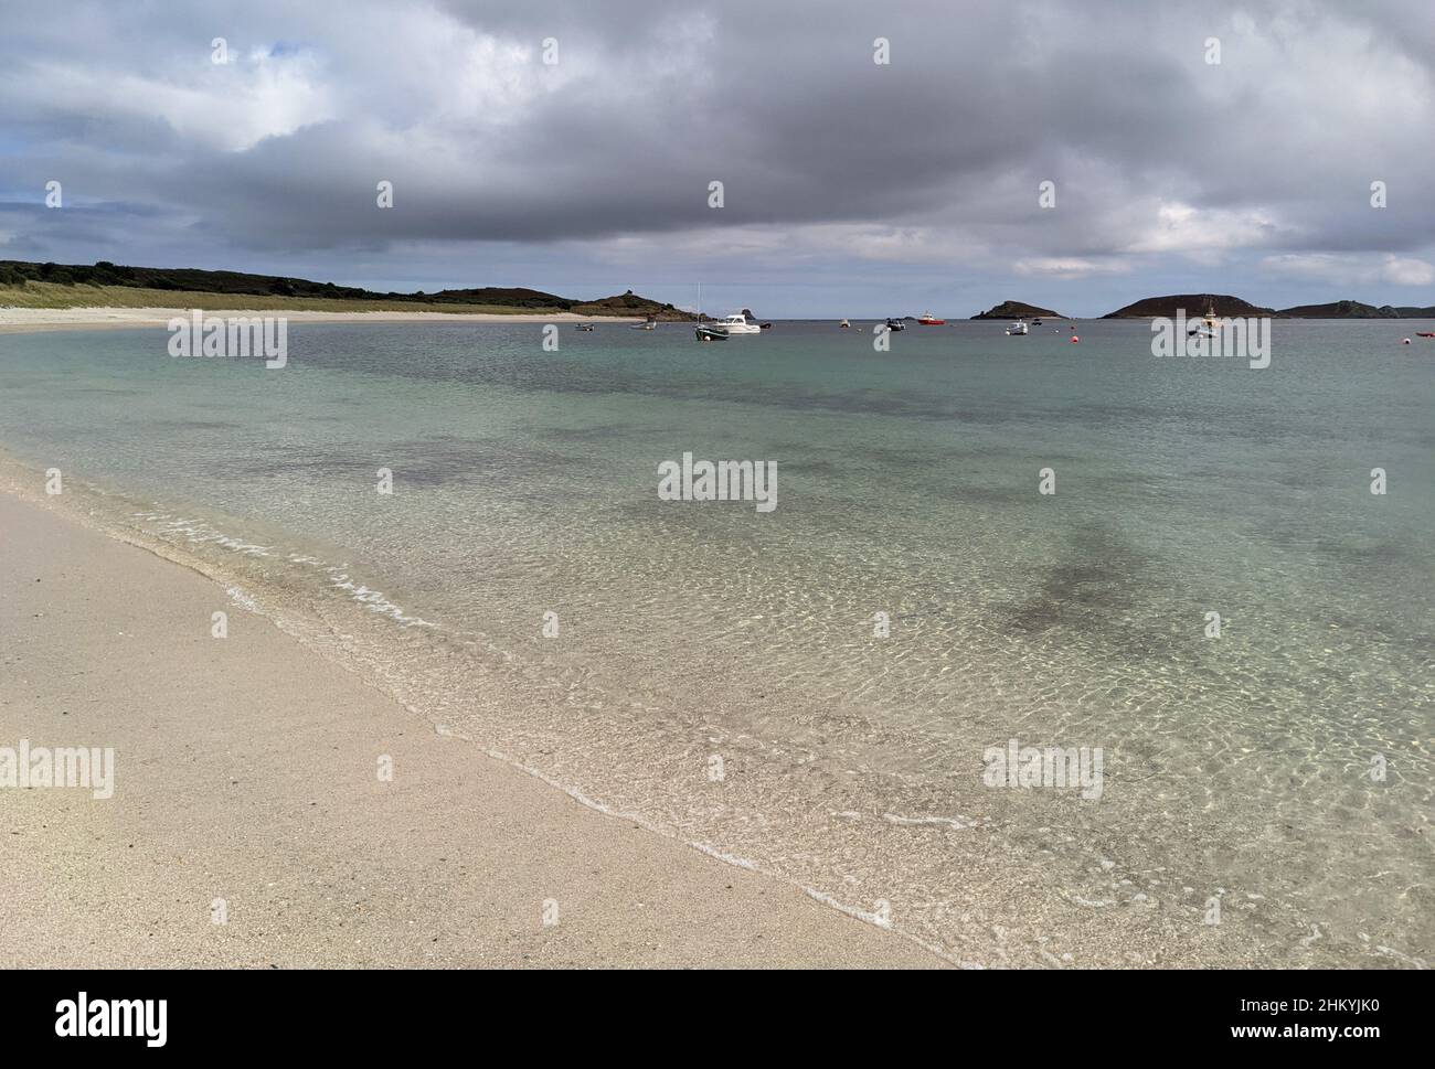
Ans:
{"type": "Polygon", "coordinates": [[[867,329],[0,336],[0,446],[443,730],[956,960],[1428,960],[1435,344],[867,329]],[[778,508],[660,501],[684,452],[778,508]],[[1012,738],[1101,748],[1099,799],[987,786],[1012,738]]]}

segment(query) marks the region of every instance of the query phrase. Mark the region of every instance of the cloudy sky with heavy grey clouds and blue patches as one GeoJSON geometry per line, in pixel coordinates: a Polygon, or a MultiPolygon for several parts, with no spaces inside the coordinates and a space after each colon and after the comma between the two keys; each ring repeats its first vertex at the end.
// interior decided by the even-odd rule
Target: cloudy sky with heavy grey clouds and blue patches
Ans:
{"type": "Polygon", "coordinates": [[[1435,304],[1429,0],[0,0],[0,258],[700,283],[763,316],[1435,304]]]}

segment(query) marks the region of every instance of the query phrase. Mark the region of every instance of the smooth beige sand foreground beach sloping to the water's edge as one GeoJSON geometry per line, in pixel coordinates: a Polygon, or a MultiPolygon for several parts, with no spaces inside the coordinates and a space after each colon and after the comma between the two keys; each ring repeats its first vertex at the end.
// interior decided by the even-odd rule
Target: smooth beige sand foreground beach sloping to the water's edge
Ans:
{"type": "Polygon", "coordinates": [[[941,964],[436,735],[62,509],[0,494],[0,745],[115,749],[112,798],[0,791],[7,966],[941,964]]]}

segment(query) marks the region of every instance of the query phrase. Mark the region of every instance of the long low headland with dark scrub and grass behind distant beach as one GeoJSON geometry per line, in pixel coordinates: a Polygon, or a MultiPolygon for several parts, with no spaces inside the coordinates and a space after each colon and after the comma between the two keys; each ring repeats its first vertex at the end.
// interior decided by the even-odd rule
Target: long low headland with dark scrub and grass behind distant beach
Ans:
{"type": "Polygon", "coordinates": [[[0,260],[0,306],[34,309],[189,307],[278,309],[291,311],[451,311],[575,316],[651,316],[664,321],[696,319],[672,304],[631,290],[616,297],[581,300],[527,288],[485,286],[439,293],[376,293],[353,286],[316,283],[240,271],[125,267],[100,260],[86,264],[34,264],[0,260]],[[243,297],[243,301],[235,301],[243,297]]]}

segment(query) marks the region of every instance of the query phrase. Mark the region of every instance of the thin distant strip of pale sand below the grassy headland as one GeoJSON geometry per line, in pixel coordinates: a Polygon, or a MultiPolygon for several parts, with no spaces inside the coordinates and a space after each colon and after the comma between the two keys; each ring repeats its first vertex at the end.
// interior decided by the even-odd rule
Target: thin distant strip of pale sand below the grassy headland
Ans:
{"type": "MultiPolygon", "coordinates": [[[[37,330],[122,330],[125,327],[164,327],[169,320],[188,317],[189,309],[6,309],[0,307],[0,334],[27,334],[37,330]]],[[[207,317],[283,316],[290,323],[639,323],[623,316],[578,316],[555,311],[545,316],[489,314],[464,311],[287,311],[276,309],[227,309],[205,311],[207,317]]]]}

